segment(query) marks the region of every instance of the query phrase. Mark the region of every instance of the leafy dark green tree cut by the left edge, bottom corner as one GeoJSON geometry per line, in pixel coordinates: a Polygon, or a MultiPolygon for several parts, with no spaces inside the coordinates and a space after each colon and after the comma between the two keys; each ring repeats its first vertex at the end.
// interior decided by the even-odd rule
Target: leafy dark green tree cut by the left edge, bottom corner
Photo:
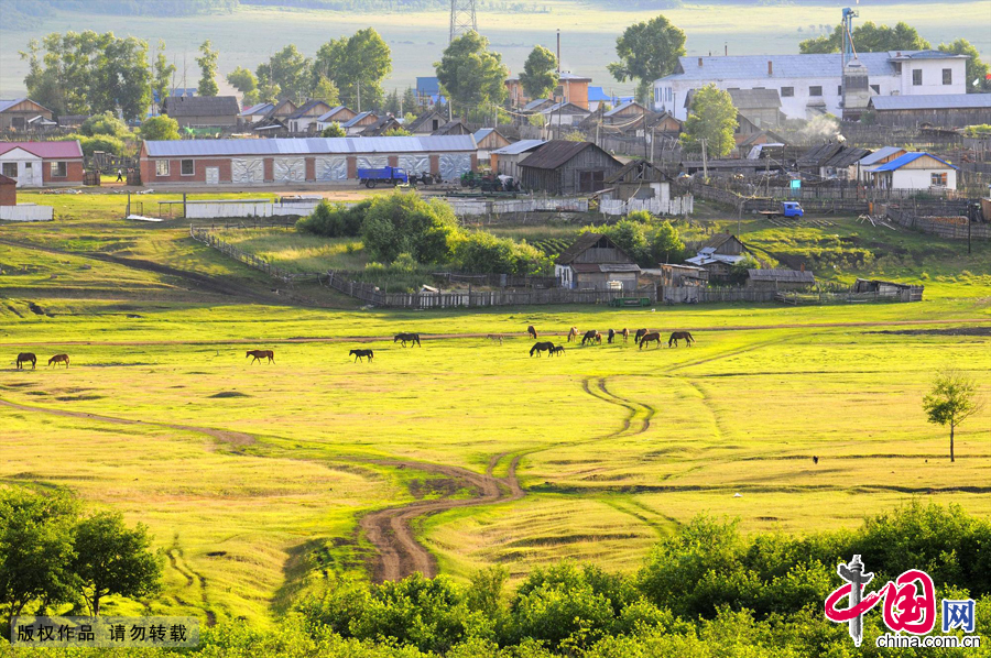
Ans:
{"type": "Polygon", "coordinates": [[[33,602],[72,597],[72,524],[77,505],[62,493],[0,489],[0,606],[4,618],[33,602]]]}

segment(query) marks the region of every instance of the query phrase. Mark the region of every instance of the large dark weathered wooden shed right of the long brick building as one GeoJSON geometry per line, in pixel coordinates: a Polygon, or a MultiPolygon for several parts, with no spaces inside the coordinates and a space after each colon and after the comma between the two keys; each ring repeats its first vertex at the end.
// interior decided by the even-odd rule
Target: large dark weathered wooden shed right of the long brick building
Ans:
{"type": "Polygon", "coordinates": [[[554,140],[520,163],[520,182],[525,189],[553,195],[591,194],[621,166],[591,142],[554,140]]]}

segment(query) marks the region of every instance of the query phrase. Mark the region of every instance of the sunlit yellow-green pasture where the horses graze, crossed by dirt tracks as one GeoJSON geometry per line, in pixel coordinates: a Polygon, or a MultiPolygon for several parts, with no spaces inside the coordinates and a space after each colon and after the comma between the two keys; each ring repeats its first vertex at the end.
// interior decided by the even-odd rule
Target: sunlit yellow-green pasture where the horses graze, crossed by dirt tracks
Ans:
{"type": "Polygon", "coordinates": [[[919,304],[350,310],[325,288],[300,294],[338,308],[291,304],[179,222],[110,219],[119,197],[53,199],[74,219],[0,226],[0,482],[67,487],[148,524],[168,553],[151,610],[266,624],[322,570],[364,577],[374,555],[357,530],[363,514],[477,495],[434,464],[509,478],[519,458],[522,498],[415,520],[457,578],[504,564],[515,579],[562,558],[634,569],[699,512],[739,517],[748,534],[854,527],[916,498],[991,515],[989,412],[958,430],[951,464],[946,432],[921,409],[943,366],[991,393],[987,245],[968,257],[853,220],[791,233],[747,224],[745,241],[782,253],[834,257],[832,232],[876,242],[899,260],[837,277],[925,271],[919,304]],[[531,323],[689,329],[697,343],[567,346],[537,359],[531,323]],[[402,349],[390,338],[402,330],[509,338],[402,349]],[[255,347],[274,349],[275,363],[250,364],[255,347]],[[353,363],[356,347],[375,360],[353,363]],[[13,369],[23,350],[42,359],[36,371],[13,369]],[[63,351],[69,369],[44,366],[63,351]]]}

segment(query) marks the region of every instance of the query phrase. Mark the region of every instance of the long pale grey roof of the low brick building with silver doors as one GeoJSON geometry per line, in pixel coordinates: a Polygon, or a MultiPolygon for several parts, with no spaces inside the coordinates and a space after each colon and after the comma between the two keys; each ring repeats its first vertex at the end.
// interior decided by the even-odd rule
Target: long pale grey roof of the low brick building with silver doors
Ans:
{"type": "Polygon", "coordinates": [[[306,138],[275,140],[176,140],[144,142],[150,157],[227,155],[329,155],[477,151],[471,135],[415,138],[306,138]]]}

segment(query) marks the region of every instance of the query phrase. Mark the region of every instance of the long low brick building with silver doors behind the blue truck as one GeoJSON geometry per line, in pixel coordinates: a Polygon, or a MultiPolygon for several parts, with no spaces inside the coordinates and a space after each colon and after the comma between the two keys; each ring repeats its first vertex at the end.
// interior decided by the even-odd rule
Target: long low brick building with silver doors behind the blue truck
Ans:
{"type": "Polygon", "coordinates": [[[384,166],[454,180],[478,167],[471,135],[144,142],[140,158],[144,185],[239,188],[344,183],[359,168],[384,166]]]}

